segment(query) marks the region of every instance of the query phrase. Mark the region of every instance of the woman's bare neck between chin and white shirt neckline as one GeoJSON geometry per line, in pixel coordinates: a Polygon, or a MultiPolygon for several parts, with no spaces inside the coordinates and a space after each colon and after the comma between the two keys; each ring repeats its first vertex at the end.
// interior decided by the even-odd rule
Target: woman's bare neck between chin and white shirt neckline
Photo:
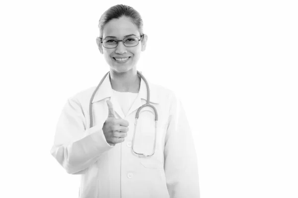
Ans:
{"type": "Polygon", "coordinates": [[[141,78],[137,70],[132,69],[123,73],[110,70],[110,81],[112,89],[117,92],[139,93],[141,78]]]}

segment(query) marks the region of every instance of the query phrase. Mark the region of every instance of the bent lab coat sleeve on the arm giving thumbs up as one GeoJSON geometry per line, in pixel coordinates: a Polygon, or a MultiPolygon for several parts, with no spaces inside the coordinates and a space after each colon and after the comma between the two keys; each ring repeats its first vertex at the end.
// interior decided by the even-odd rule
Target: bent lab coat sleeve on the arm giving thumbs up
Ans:
{"type": "Polygon", "coordinates": [[[86,130],[85,116],[77,99],[68,99],[58,120],[51,154],[70,174],[83,174],[100,155],[113,148],[104,137],[105,120],[86,130]]]}

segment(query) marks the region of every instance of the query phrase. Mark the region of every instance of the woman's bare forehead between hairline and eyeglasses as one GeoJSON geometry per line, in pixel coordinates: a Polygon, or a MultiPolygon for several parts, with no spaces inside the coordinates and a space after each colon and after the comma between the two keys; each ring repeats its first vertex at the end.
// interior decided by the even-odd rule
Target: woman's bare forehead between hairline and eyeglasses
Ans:
{"type": "Polygon", "coordinates": [[[110,20],[103,27],[102,37],[114,36],[117,38],[122,38],[129,34],[140,35],[138,27],[131,21],[130,18],[121,17],[119,19],[110,20]]]}

